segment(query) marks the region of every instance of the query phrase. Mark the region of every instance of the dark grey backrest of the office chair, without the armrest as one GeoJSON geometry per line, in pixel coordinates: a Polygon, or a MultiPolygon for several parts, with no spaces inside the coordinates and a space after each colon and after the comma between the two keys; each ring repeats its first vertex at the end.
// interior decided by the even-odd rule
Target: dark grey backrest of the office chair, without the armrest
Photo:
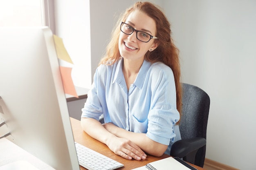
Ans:
{"type": "MultiPolygon", "coordinates": [[[[182,84],[182,116],[180,134],[182,139],[203,137],[206,139],[210,98],[201,88],[190,84],[182,84]]],[[[195,155],[195,164],[203,165],[206,146],[200,148],[195,155]]]]}

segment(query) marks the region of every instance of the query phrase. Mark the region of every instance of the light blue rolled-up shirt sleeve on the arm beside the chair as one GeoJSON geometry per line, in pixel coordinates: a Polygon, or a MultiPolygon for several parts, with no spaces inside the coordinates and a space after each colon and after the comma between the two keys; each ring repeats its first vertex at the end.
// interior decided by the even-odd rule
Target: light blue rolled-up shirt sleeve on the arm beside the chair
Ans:
{"type": "Polygon", "coordinates": [[[176,87],[171,68],[152,71],[152,99],[148,113],[147,137],[160,144],[169,145],[174,141],[174,125],[180,119],[176,106],[176,87]]]}

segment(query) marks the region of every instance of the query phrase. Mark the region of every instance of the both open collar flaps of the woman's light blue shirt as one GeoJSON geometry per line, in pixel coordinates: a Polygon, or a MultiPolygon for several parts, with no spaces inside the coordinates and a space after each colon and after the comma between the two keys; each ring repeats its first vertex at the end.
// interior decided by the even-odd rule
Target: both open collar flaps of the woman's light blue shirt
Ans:
{"type": "MultiPolygon", "coordinates": [[[[122,65],[124,62],[123,60],[124,59],[121,58],[121,60],[119,60],[117,62],[115,76],[114,76],[112,83],[117,82],[120,84],[121,81],[124,80],[124,74],[123,74],[123,70],[122,70],[122,65]]],[[[139,69],[139,73],[137,75],[137,78],[135,79],[134,85],[140,89],[143,87],[143,84],[144,84],[144,81],[146,78],[146,73],[148,72],[148,69],[150,68],[150,66],[151,66],[151,63],[144,60],[144,62],[141,65],[141,68],[139,69]]]]}

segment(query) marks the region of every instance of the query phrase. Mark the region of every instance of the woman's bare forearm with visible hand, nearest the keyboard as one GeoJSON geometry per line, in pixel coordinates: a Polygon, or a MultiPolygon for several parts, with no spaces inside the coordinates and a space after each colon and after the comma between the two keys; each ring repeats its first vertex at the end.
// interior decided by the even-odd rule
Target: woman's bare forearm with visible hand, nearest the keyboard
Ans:
{"type": "Polygon", "coordinates": [[[137,145],[126,138],[117,137],[108,132],[99,121],[92,118],[82,118],[81,126],[88,135],[106,144],[115,154],[138,161],[146,159],[146,154],[137,145]]]}

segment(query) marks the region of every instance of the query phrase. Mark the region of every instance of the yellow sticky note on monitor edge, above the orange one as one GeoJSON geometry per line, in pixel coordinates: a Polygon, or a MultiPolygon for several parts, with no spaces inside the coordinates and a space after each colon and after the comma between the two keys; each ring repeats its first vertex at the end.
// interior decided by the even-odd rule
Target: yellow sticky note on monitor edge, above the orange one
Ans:
{"type": "Polygon", "coordinates": [[[57,35],[53,35],[53,39],[54,39],[57,57],[61,60],[64,60],[66,62],[73,64],[70,58],[70,55],[68,55],[67,50],[65,49],[62,39],[59,38],[57,35]]]}

